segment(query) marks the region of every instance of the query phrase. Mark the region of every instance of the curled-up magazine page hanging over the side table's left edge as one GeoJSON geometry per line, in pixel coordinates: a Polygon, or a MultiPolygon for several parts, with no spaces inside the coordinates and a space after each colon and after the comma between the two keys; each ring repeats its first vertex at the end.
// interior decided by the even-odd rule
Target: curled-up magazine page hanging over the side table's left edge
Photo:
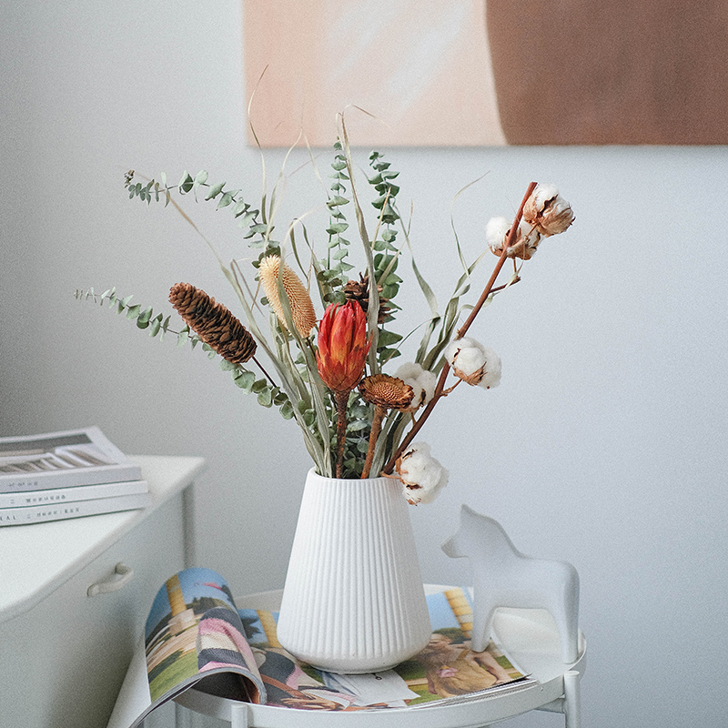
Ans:
{"type": "Polygon", "coordinates": [[[186,569],[157,592],[109,728],[136,728],[155,708],[194,686],[246,703],[266,703],[255,656],[227,581],[186,569]]]}

